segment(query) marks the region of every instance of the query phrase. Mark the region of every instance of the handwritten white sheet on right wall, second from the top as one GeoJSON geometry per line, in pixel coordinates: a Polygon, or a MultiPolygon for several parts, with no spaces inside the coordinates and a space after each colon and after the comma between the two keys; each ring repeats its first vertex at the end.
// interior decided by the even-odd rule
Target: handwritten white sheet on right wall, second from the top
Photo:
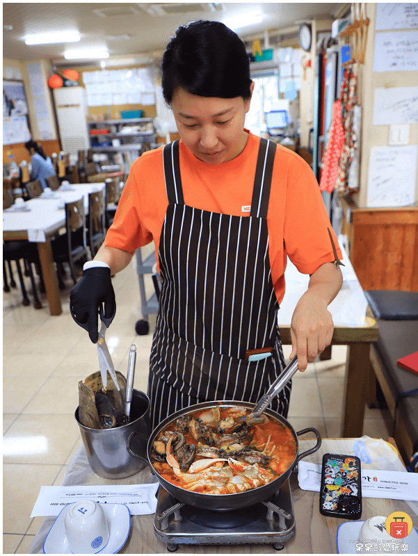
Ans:
{"type": "Polygon", "coordinates": [[[412,72],[418,70],[417,31],[376,33],[373,72],[412,72]]]}

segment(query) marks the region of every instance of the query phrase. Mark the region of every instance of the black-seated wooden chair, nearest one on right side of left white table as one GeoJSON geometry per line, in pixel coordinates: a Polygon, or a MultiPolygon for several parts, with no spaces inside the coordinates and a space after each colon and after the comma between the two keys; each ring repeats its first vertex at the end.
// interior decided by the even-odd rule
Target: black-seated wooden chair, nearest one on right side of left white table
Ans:
{"type": "Polygon", "coordinates": [[[88,261],[86,243],[86,215],[84,201],[79,199],[65,204],[65,234],[52,241],[52,254],[57,263],[58,286],[65,288],[62,264],[70,265],[70,272],[74,285],[77,284],[75,263],[88,261]]]}

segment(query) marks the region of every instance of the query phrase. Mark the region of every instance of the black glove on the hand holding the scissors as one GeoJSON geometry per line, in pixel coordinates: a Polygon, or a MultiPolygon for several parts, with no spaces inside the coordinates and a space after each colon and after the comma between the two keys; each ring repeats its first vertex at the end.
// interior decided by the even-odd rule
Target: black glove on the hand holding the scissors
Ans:
{"type": "MultiPolygon", "coordinates": [[[[74,320],[86,328],[90,340],[97,343],[99,307],[104,304],[104,318],[112,318],[116,311],[115,291],[111,269],[95,266],[83,271],[83,276],[70,292],[70,309],[74,320]]],[[[109,322],[110,324],[110,322],[109,322]]]]}

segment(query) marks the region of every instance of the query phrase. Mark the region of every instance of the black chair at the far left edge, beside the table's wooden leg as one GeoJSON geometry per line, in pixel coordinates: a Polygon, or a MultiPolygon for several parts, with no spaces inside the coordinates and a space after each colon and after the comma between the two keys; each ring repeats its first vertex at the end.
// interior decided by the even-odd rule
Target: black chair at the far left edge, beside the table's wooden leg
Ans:
{"type": "MultiPolygon", "coordinates": [[[[37,254],[35,254],[34,252],[35,249],[36,249],[36,245],[33,243],[29,243],[29,241],[26,240],[3,241],[3,280],[4,280],[3,290],[6,292],[10,291],[10,289],[8,289],[5,263],[6,262],[8,263],[10,276],[13,277],[11,273],[10,263],[11,261],[15,261],[17,274],[19,275],[20,289],[22,291],[22,296],[23,296],[22,304],[24,304],[25,306],[31,304],[24,284],[22,268],[20,266],[20,261],[24,261],[26,263],[26,269],[31,279],[33,298],[35,300],[33,306],[35,307],[35,309],[42,309],[42,304],[38,297],[38,289],[36,288],[35,277],[33,276],[33,270],[32,270],[32,263],[37,262],[36,261],[37,254]]],[[[10,285],[13,286],[12,281],[10,281],[10,285]]]]}

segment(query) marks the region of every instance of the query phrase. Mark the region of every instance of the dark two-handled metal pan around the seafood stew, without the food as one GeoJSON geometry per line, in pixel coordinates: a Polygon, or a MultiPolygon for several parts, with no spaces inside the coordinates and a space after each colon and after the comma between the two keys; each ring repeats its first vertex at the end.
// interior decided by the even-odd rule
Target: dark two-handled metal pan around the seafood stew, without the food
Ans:
{"type": "Polygon", "coordinates": [[[321,434],[319,434],[319,431],[314,429],[314,427],[308,427],[306,429],[300,430],[299,432],[295,432],[294,428],[291,426],[289,421],[287,421],[284,417],[280,416],[278,413],[272,411],[271,409],[266,409],[264,411],[264,414],[266,414],[268,418],[273,418],[275,420],[278,420],[280,423],[282,423],[282,425],[284,425],[284,427],[287,427],[287,429],[290,430],[291,435],[293,436],[294,441],[296,443],[296,456],[294,457],[294,461],[289,465],[287,470],[284,471],[284,473],[282,473],[282,475],[276,477],[274,480],[268,482],[267,484],[264,484],[262,486],[257,486],[257,488],[255,489],[250,489],[247,491],[234,493],[234,494],[220,494],[220,495],[188,491],[164,479],[152,466],[152,459],[151,459],[152,446],[154,445],[154,441],[156,441],[156,439],[159,438],[159,434],[163,432],[163,430],[165,430],[168,427],[168,425],[170,425],[171,423],[175,423],[175,421],[180,417],[186,417],[188,415],[198,413],[199,411],[202,410],[209,411],[210,409],[215,408],[219,404],[222,405],[222,407],[224,408],[241,406],[251,410],[254,409],[255,407],[255,404],[252,404],[250,402],[227,400],[222,402],[204,402],[201,404],[192,405],[180,411],[176,411],[174,414],[168,416],[165,420],[163,420],[152,431],[152,434],[150,436],[147,445],[147,459],[144,458],[143,453],[141,453],[142,450],[140,450],[138,448],[138,445],[136,444],[136,433],[133,432],[129,436],[128,443],[127,443],[128,452],[132,456],[137,457],[142,461],[146,461],[146,463],[149,464],[152,473],[156,475],[161,486],[163,486],[163,488],[166,489],[168,493],[170,493],[175,499],[179,500],[180,502],[185,502],[186,504],[191,505],[193,507],[198,507],[202,509],[211,509],[215,512],[228,512],[232,509],[240,509],[243,507],[248,507],[257,504],[257,502],[262,502],[263,500],[267,500],[268,498],[273,496],[277,491],[279,491],[280,487],[288,480],[291,472],[298,464],[298,461],[300,461],[300,459],[302,459],[303,457],[310,455],[313,452],[316,452],[317,450],[319,450],[321,446],[321,442],[322,442],[321,434]],[[314,432],[316,436],[316,445],[314,445],[313,448],[310,448],[310,450],[306,450],[305,452],[300,453],[298,436],[301,436],[306,432],[314,432]]]}

